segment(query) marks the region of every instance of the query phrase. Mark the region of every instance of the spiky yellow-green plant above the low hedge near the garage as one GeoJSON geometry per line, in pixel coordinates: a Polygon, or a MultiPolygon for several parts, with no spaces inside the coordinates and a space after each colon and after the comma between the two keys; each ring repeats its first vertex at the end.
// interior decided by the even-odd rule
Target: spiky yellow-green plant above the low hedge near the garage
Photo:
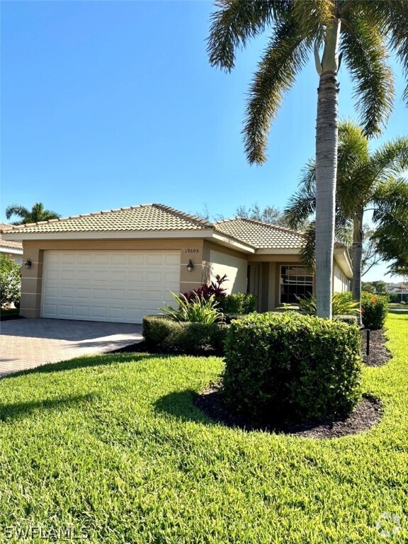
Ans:
{"type": "Polygon", "coordinates": [[[176,310],[166,304],[165,308],[159,308],[159,310],[173,321],[211,324],[222,322],[224,319],[224,314],[218,310],[218,302],[214,295],[207,300],[197,293],[192,293],[189,298],[182,294],[171,293],[171,295],[179,305],[179,309],[176,310]]]}

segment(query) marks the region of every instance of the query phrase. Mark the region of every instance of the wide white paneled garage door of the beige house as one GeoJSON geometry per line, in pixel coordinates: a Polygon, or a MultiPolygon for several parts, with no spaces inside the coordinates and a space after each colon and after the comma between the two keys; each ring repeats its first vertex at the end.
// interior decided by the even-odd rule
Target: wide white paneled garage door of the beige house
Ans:
{"type": "Polygon", "coordinates": [[[41,314],[141,323],[179,289],[180,251],[45,251],[41,314]]]}

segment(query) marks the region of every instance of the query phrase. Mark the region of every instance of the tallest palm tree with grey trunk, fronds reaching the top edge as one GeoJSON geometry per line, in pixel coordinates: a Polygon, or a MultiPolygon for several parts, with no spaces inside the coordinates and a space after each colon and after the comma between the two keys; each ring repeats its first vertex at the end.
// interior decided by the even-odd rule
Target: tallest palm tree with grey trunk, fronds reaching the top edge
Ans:
{"type": "MultiPolygon", "coordinates": [[[[210,63],[227,72],[235,52],[267,28],[271,32],[249,89],[244,123],[246,157],[266,160],[268,131],[285,93],[314,54],[319,88],[316,130],[317,314],[331,317],[331,271],[336,189],[337,72],[343,57],[356,88],[366,135],[380,132],[392,110],[388,52],[408,75],[408,2],[404,0],[217,0],[212,14],[210,63]],[[319,51],[322,55],[319,55],[319,51]]],[[[404,93],[408,101],[408,86],[404,93]]]]}

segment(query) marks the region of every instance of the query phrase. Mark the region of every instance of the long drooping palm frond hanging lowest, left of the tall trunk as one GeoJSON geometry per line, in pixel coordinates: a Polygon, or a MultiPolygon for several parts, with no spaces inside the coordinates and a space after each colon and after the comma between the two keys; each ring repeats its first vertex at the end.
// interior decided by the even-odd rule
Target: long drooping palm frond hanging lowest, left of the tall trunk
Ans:
{"type": "Polygon", "coordinates": [[[299,32],[293,18],[278,23],[249,88],[244,124],[246,158],[250,164],[266,161],[271,123],[295,77],[305,66],[312,40],[299,32]]]}

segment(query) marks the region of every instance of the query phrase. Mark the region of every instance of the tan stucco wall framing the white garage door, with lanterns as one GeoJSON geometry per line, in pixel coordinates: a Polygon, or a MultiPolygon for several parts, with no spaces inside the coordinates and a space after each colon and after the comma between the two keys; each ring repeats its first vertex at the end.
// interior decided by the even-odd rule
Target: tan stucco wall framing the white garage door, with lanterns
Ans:
{"type": "Polygon", "coordinates": [[[203,239],[96,239],[96,240],[33,240],[23,242],[23,262],[28,258],[33,265],[30,270],[23,267],[21,282],[20,314],[23,317],[40,317],[42,267],[44,251],[76,250],[91,251],[110,249],[140,249],[180,251],[180,291],[192,290],[201,285],[205,276],[203,264],[203,239]],[[193,271],[187,271],[188,259],[193,261],[193,271]]]}

